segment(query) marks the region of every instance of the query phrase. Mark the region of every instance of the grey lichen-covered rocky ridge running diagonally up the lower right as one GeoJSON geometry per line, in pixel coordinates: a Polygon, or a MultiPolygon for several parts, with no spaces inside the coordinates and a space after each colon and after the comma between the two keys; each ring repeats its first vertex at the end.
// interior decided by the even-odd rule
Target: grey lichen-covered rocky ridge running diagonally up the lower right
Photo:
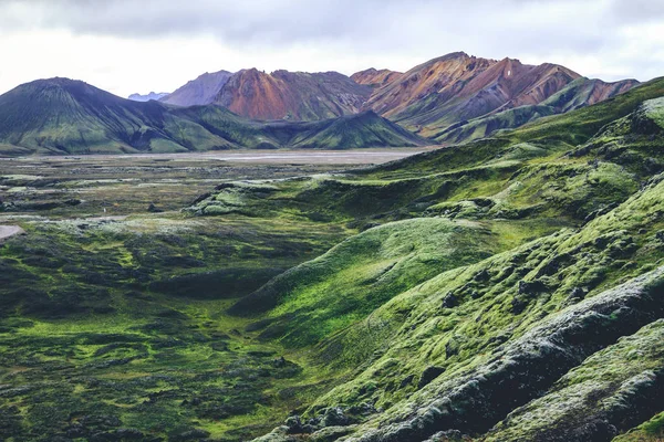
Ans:
{"type": "Polygon", "coordinates": [[[487,365],[430,386],[411,417],[359,436],[362,442],[424,440],[437,431],[487,431],[544,393],[588,356],[664,317],[664,267],[585,299],[526,333],[487,365]]]}

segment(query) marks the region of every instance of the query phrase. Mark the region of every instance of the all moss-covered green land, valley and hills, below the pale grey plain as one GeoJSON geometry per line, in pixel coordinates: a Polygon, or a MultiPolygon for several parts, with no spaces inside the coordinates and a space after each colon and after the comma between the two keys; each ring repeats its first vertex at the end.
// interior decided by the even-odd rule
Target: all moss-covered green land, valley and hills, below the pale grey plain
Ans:
{"type": "Polygon", "coordinates": [[[658,80],[376,168],[224,182],[183,213],[22,223],[0,246],[0,428],[654,440],[662,96],[658,80]]]}

